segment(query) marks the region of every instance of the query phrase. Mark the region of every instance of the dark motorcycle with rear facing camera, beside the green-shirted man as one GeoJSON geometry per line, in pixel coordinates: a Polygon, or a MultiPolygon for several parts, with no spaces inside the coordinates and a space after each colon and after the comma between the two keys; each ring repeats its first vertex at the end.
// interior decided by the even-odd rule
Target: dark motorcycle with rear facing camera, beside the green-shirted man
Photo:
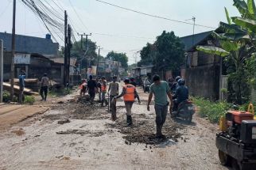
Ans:
{"type": "Polygon", "coordinates": [[[192,122],[192,117],[195,114],[195,106],[191,100],[184,100],[178,105],[177,111],[172,111],[173,118],[184,119],[187,123],[192,122]]]}

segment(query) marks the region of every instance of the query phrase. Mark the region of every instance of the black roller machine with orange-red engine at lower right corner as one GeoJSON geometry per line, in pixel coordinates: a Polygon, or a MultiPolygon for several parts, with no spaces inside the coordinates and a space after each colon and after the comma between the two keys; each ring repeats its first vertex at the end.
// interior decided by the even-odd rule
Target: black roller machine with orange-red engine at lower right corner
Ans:
{"type": "Polygon", "coordinates": [[[235,170],[256,169],[256,117],[254,107],[247,111],[227,111],[219,121],[216,135],[219,161],[235,170]]]}

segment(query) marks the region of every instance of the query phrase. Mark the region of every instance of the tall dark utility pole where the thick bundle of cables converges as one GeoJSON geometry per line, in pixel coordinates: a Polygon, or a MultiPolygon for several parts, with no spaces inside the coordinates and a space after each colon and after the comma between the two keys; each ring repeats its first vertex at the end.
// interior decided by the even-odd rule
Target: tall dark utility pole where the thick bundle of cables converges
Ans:
{"type": "Polygon", "coordinates": [[[68,66],[68,35],[67,35],[67,28],[68,28],[68,15],[67,11],[64,11],[64,87],[67,85],[67,66],[68,66]]]}

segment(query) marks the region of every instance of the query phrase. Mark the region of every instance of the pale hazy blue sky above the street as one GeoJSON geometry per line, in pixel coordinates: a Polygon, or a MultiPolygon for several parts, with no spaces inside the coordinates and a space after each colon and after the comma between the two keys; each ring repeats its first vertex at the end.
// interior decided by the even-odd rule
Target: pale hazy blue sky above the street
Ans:
{"type": "MultiPolygon", "coordinates": [[[[34,0],[37,1],[37,0],[34,0]]],[[[156,36],[164,30],[175,32],[176,36],[192,34],[192,25],[184,25],[173,21],[143,16],[123,9],[108,6],[95,0],[41,0],[56,7],[57,2],[68,11],[77,32],[92,32],[90,39],[103,47],[102,55],[108,51],[126,52],[129,63],[134,63],[136,51],[142,49],[147,42],[153,43],[156,36]],[[82,22],[72,9],[80,15],[82,22]],[[102,35],[107,34],[107,35],[102,35]]],[[[196,24],[217,28],[219,21],[226,21],[224,6],[232,16],[238,12],[232,0],[103,0],[118,6],[135,9],[143,13],[168,17],[173,20],[185,21],[196,17],[196,24]]],[[[56,10],[57,7],[56,7],[56,10]]],[[[192,21],[188,21],[192,22],[192,21]]],[[[11,32],[12,28],[12,0],[1,0],[0,32],[11,32]]],[[[17,34],[45,37],[47,29],[21,0],[17,0],[17,34]]],[[[196,33],[209,31],[211,28],[196,26],[196,33]]],[[[76,36],[76,39],[80,38],[76,36]]],[[[58,40],[60,44],[63,44],[58,40]]]]}

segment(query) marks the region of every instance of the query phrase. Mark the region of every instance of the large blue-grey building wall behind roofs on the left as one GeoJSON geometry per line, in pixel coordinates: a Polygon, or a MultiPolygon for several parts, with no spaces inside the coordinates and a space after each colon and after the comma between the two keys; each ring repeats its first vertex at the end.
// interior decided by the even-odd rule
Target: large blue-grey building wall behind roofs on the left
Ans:
{"type": "MultiPolygon", "coordinates": [[[[5,51],[11,51],[12,34],[0,32],[0,40],[3,40],[3,47],[5,51]]],[[[53,43],[51,35],[49,34],[46,34],[45,38],[15,35],[16,52],[56,57],[58,55],[58,50],[59,43],[53,43]]]]}

